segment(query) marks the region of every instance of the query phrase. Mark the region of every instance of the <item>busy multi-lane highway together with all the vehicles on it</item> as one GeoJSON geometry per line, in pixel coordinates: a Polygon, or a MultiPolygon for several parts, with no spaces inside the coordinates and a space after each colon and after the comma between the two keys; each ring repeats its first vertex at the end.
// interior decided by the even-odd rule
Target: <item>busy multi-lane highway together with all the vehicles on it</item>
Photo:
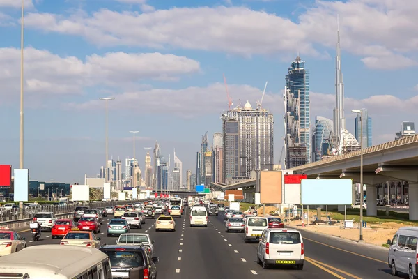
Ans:
{"type": "Polygon", "coordinates": [[[29,229],[0,227],[0,279],[416,278],[413,233],[394,236],[388,262],[384,248],[286,227],[280,218],[242,212],[239,203],[77,206],[72,218],[39,212],[29,229]],[[397,243],[412,262],[394,252],[397,243]]]}

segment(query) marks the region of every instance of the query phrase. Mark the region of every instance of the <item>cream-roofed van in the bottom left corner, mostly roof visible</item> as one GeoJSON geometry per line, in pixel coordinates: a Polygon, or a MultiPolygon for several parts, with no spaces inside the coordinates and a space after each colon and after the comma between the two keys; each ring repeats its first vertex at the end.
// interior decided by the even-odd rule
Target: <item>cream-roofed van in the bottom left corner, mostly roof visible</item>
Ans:
{"type": "Polygon", "coordinates": [[[109,257],[95,248],[31,246],[0,257],[0,279],[111,279],[109,257]]]}

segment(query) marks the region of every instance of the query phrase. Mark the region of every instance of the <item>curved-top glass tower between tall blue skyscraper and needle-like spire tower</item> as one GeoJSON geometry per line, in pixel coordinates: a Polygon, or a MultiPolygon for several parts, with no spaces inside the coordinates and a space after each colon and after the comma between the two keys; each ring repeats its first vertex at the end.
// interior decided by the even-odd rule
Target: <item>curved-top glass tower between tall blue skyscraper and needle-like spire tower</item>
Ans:
{"type": "Polygon", "coordinates": [[[332,152],[330,144],[332,143],[333,128],[334,125],[330,119],[316,116],[314,135],[312,137],[312,160],[314,162],[321,160],[322,156],[332,152]]]}

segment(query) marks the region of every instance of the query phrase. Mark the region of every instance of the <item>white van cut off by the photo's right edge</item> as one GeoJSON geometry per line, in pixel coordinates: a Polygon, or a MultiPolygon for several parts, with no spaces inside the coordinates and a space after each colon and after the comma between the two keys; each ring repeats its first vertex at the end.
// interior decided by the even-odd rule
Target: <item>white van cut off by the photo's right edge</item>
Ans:
{"type": "Polygon", "coordinates": [[[401,272],[407,273],[409,278],[418,278],[417,239],[418,227],[401,227],[392,241],[387,241],[390,245],[387,264],[392,269],[393,276],[401,272]]]}

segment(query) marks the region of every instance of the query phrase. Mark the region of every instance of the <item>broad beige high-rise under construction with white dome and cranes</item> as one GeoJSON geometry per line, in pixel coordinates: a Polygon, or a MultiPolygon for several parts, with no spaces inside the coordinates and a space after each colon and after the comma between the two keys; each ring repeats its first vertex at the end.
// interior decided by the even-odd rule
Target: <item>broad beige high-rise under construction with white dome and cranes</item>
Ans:
{"type": "Polygon", "coordinates": [[[251,171],[272,170],[274,165],[273,115],[247,102],[222,115],[224,178],[249,179],[251,171]]]}

